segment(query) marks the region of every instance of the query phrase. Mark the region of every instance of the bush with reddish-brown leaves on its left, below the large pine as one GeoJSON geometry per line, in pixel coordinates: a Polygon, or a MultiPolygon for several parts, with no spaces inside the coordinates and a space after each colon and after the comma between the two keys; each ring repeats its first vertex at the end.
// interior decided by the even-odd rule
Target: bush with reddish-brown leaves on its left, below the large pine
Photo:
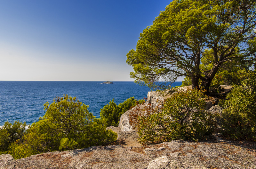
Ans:
{"type": "Polygon", "coordinates": [[[130,115],[130,123],[141,144],[156,144],[175,139],[203,139],[213,131],[214,116],[203,111],[203,91],[197,89],[173,93],[164,104],[145,105],[130,115]]]}

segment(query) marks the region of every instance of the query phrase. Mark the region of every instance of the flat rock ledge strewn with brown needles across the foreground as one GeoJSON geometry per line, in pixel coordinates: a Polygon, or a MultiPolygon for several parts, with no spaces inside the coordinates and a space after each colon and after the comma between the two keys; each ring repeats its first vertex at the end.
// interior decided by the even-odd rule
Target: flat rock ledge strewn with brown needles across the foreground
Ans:
{"type": "Polygon", "coordinates": [[[0,155],[0,169],[7,168],[252,169],[256,168],[256,146],[255,142],[228,142],[217,138],[205,142],[176,140],[141,147],[93,146],[82,150],[37,154],[18,160],[11,155],[0,155]]]}

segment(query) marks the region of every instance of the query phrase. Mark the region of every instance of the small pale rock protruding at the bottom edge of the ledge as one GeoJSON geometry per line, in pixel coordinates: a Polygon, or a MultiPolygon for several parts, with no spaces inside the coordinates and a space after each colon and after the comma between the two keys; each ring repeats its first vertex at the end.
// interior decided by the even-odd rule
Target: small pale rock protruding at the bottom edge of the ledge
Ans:
{"type": "Polygon", "coordinates": [[[170,162],[166,156],[158,157],[149,162],[148,169],[168,169],[170,162]]]}

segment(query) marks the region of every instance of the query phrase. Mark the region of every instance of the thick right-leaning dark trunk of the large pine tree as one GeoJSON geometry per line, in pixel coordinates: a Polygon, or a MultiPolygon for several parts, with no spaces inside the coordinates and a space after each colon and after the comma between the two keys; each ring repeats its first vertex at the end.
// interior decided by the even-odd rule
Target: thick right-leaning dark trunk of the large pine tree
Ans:
{"type": "Polygon", "coordinates": [[[205,89],[207,92],[209,92],[212,79],[214,78],[215,74],[219,70],[219,67],[220,67],[220,64],[217,64],[217,63],[214,64],[211,71],[205,75],[204,80],[201,82],[200,89],[205,89]]]}

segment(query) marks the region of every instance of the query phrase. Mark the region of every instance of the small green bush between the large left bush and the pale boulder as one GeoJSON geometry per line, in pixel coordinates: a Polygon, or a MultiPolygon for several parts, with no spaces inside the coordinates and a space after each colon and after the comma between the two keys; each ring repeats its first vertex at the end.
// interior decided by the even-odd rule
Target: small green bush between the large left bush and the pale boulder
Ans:
{"type": "Polygon", "coordinates": [[[136,106],[136,104],[141,104],[145,102],[143,99],[137,101],[134,97],[130,97],[125,100],[123,103],[119,103],[118,106],[112,101],[109,104],[105,105],[103,109],[100,109],[100,118],[104,119],[107,123],[107,126],[118,126],[119,119],[127,110],[131,109],[132,107],[136,106]]]}

